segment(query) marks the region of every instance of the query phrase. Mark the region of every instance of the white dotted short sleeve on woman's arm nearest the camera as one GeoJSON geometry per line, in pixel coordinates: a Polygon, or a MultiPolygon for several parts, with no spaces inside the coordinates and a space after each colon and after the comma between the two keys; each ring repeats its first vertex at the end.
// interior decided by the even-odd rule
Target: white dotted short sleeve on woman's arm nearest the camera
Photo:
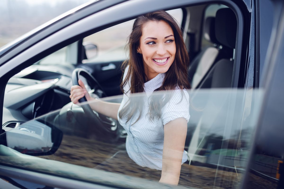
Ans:
{"type": "Polygon", "coordinates": [[[161,118],[163,125],[177,118],[189,121],[189,94],[186,90],[174,90],[172,97],[162,108],[161,118]]]}

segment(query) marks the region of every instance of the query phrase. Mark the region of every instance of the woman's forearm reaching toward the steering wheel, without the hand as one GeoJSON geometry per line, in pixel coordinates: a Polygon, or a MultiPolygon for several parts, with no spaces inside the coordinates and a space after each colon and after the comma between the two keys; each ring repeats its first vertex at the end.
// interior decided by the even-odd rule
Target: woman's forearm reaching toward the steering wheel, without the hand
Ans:
{"type": "Polygon", "coordinates": [[[117,120],[120,103],[105,102],[91,97],[89,105],[94,111],[117,120]]]}

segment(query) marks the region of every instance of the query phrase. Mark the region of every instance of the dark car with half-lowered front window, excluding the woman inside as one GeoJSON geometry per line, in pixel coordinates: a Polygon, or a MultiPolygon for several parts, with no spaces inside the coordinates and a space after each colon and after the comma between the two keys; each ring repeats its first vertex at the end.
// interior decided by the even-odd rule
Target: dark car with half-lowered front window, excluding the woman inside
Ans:
{"type": "Polygon", "coordinates": [[[278,0],[99,0],[7,44],[1,188],[283,188],[283,10],[278,0]],[[119,122],[69,98],[80,78],[93,97],[121,102],[133,19],[155,10],[176,18],[190,56],[180,186],[134,169],[119,122]]]}

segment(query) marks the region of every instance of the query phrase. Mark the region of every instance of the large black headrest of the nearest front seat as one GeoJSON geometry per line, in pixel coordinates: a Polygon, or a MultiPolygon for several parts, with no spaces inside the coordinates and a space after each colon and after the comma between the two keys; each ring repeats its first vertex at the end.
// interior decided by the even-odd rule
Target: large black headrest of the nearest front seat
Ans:
{"type": "Polygon", "coordinates": [[[235,48],[237,18],[233,10],[224,8],[216,12],[215,33],[219,43],[230,48],[235,48]]]}

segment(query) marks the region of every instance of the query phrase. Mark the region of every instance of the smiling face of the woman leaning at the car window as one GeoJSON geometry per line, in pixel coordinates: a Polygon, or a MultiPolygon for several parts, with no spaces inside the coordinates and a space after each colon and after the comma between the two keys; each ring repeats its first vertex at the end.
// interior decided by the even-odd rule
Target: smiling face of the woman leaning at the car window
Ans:
{"type": "Polygon", "coordinates": [[[174,32],[170,25],[165,21],[144,24],[137,52],[142,54],[148,80],[168,71],[176,54],[174,32]]]}

